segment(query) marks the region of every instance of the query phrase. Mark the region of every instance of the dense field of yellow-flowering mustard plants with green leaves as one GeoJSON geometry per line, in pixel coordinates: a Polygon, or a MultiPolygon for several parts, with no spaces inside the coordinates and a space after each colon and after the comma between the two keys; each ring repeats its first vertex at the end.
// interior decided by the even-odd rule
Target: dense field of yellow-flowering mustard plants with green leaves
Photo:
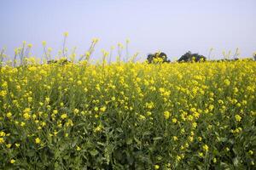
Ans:
{"type": "Polygon", "coordinates": [[[255,168],[256,62],[64,64],[0,68],[0,168],[255,168]]]}

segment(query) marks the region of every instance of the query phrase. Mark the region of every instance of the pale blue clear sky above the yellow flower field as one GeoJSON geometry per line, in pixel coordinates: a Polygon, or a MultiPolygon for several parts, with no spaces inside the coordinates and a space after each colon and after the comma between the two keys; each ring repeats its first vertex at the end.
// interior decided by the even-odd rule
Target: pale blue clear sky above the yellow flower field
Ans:
{"type": "Polygon", "coordinates": [[[92,38],[100,39],[93,59],[102,59],[102,49],[125,44],[127,38],[129,54],[138,52],[140,59],[157,51],[171,60],[187,51],[208,57],[210,48],[211,59],[222,58],[223,51],[234,54],[236,48],[241,57],[251,57],[255,7],[255,0],[1,0],[0,48],[13,57],[26,41],[39,58],[46,41],[56,55],[67,31],[67,48],[77,47],[78,55],[92,38]]]}

